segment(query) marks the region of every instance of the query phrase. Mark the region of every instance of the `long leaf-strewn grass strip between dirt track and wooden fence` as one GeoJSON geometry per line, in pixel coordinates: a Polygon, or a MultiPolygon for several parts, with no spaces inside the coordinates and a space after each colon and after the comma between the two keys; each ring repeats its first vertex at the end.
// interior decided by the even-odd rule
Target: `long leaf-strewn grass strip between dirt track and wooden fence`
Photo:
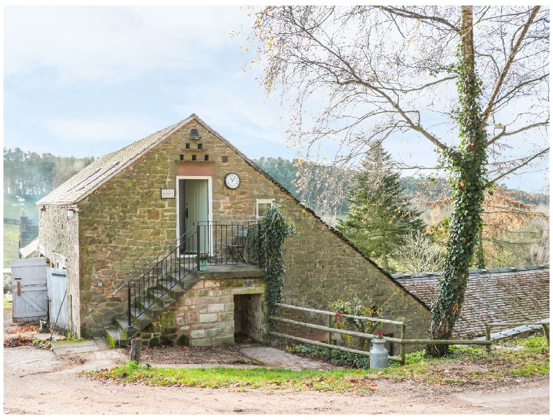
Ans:
{"type": "Polygon", "coordinates": [[[517,346],[496,348],[451,347],[447,358],[426,358],[424,352],[409,354],[407,364],[391,363],[386,369],[335,369],[332,371],[286,369],[147,369],[144,364],[126,363],[82,375],[115,383],[142,383],[149,386],[182,386],[247,389],[320,390],[366,393],[375,390],[379,378],[411,380],[429,385],[463,385],[507,381],[521,376],[549,374],[549,348],[543,337],[517,340],[517,346]]]}

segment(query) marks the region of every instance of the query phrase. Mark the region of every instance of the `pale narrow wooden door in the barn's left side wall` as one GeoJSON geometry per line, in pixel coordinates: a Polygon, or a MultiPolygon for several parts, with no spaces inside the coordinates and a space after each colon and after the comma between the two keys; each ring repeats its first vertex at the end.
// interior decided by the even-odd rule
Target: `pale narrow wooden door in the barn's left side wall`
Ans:
{"type": "Polygon", "coordinates": [[[48,322],[53,329],[68,331],[68,297],[66,270],[64,268],[46,268],[46,284],[48,285],[48,322]]]}

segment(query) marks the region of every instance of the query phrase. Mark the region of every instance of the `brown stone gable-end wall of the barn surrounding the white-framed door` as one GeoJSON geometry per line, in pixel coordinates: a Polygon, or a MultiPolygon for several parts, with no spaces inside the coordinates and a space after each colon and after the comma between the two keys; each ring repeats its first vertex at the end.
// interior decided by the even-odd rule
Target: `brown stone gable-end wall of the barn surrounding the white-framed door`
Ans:
{"type": "MultiPolygon", "coordinates": [[[[212,176],[214,221],[255,219],[256,199],[274,199],[283,206],[297,229],[285,241],[283,302],[328,309],[329,300],[348,298],[355,291],[360,298],[370,295],[382,304],[385,316],[406,320],[414,336],[426,334],[430,315],[418,300],[225,141],[193,120],[79,203],[82,336],[102,334],[115,316],[124,316],[124,305],[116,304],[111,293],[177,237],[176,199],[160,199],[160,188],[176,189],[176,176],[194,174],[212,176]],[[198,142],[187,138],[192,127],[200,132],[198,142]],[[193,154],[195,162],[191,162],[193,154]],[[241,176],[238,189],[223,185],[228,172],[241,176]]],[[[232,301],[212,304],[230,305],[232,301]]],[[[208,343],[207,332],[202,337],[200,332],[195,334],[191,337],[195,343],[208,343]]],[[[230,334],[226,324],[225,334],[230,334]]]]}

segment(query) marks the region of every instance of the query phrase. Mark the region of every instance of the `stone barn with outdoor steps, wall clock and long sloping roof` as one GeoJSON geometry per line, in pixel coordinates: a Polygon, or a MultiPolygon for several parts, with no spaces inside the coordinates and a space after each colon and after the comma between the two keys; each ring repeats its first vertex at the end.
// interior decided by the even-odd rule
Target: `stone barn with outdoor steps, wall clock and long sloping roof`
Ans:
{"type": "Polygon", "coordinates": [[[296,229],[285,240],[283,303],[327,310],[369,295],[409,338],[427,336],[421,300],[194,114],[102,156],[37,203],[39,251],[66,268],[68,330],[114,344],[127,333],[150,345],[231,345],[238,333],[267,341],[263,271],[244,264],[245,242],[274,203],[296,229]]]}

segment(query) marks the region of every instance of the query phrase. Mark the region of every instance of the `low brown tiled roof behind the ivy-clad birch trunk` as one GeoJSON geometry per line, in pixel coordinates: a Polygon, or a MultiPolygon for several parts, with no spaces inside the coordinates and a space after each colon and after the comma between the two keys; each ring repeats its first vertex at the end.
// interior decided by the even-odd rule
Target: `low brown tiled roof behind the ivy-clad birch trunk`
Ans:
{"type": "MultiPolygon", "coordinates": [[[[440,273],[392,276],[429,309],[438,297],[440,273]]],[[[453,336],[483,336],[485,325],[491,322],[535,322],[545,318],[549,318],[549,265],[476,269],[469,271],[465,302],[453,336]]],[[[504,327],[492,331],[500,329],[504,327]]]]}

